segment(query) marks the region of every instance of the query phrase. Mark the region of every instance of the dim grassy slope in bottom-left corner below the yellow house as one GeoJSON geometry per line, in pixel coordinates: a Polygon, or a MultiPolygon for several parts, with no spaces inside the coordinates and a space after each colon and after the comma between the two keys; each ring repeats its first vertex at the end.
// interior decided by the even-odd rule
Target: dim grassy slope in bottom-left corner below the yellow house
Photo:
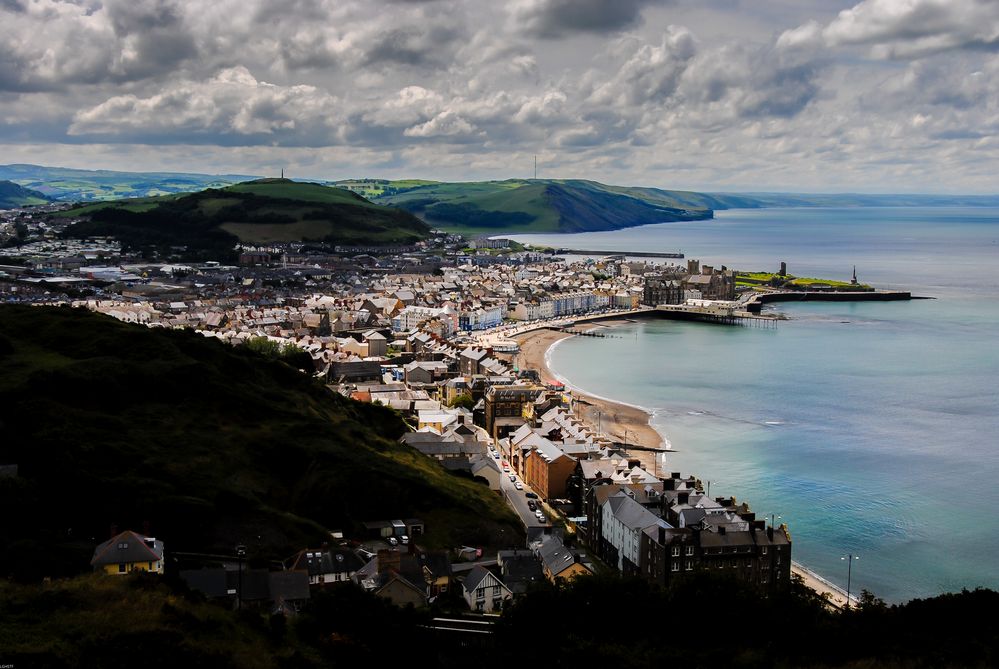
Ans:
{"type": "Polygon", "coordinates": [[[120,666],[120,656],[141,649],[145,666],[165,666],[169,657],[188,666],[263,669],[291,654],[262,633],[263,620],[253,625],[178,596],[148,575],[0,582],[0,621],[3,659],[14,666],[120,666]]]}

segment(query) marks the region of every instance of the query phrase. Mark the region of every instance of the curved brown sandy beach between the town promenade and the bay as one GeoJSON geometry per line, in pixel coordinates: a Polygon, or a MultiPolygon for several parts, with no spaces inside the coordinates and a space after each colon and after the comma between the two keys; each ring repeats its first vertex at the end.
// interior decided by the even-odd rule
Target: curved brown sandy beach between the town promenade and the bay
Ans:
{"type": "MultiPolygon", "coordinates": [[[[613,326],[615,323],[616,321],[605,321],[600,325],[580,325],[579,329],[607,327],[613,326]]],[[[520,352],[513,356],[514,362],[521,369],[538,370],[541,373],[542,380],[545,382],[558,381],[558,377],[555,376],[545,363],[545,354],[551,348],[552,344],[571,336],[570,334],[555,330],[536,330],[527,334],[517,335],[514,339],[520,344],[520,352]]],[[[647,411],[599,397],[593,397],[592,395],[578,391],[574,391],[573,395],[576,398],[576,414],[583,421],[594,427],[599,424],[600,432],[614,441],[637,444],[649,448],[659,448],[662,446],[662,435],[649,425],[649,420],[652,416],[647,411]]],[[[630,452],[649,471],[656,471],[653,453],[634,449],[630,452]]],[[[658,473],[661,474],[662,472],[658,473]]]]}

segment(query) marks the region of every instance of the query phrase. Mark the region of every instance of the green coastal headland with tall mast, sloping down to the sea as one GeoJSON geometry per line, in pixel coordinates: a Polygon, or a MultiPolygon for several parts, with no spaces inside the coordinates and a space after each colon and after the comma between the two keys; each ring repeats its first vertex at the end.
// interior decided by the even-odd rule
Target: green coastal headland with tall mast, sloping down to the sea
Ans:
{"type": "Polygon", "coordinates": [[[411,211],[430,225],[469,235],[590,232],[711,218],[704,196],[608,186],[576,179],[466,183],[353,180],[343,188],[411,211]]]}

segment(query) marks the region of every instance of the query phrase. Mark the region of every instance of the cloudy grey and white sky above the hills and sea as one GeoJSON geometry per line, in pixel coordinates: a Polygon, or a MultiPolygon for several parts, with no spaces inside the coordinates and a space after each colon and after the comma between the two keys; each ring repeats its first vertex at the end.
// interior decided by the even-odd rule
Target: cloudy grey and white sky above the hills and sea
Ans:
{"type": "Polygon", "coordinates": [[[0,0],[0,163],[996,193],[999,0],[0,0]]]}

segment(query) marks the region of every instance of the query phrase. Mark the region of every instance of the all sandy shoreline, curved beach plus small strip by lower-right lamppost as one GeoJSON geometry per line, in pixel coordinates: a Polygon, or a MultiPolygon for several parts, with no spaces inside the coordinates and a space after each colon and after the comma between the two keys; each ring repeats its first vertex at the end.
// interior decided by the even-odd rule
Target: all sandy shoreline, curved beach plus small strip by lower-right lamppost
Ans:
{"type": "MultiPolygon", "coordinates": [[[[581,324],[579,329],[614,327],[626,322],[626,320],[620,319],[603,321],[600,324],[581,324]]],[[[559,343],[572,336],[574,335],[566,332],[546,329],[515,335],[511,339],[517,341],[520,345],[520,351],[510,358],[521,369],[538,370],[543,382],[556,381],[565,384],[566,388],[572,390],[572,394],[576,398],[573,409],[577,411],[577,415],[595,427],[597,425],[596,413],[600,412],[601,432],[612,437],[615,441],[624,442],[624,431],[627,430],[628,436],[631,437],[631,443],[651,448],[659,448],[664,443],[668,443],[667,437],[652,427],[651,422],[655,417],[655,410],[587,393],[572,386],[565,378],[552,370],[549,364],[551,351],[559,343]],[[637,442],[635,441],[636,437],[637,442]]],[[[637,458],[646,469],[654,474],[659,474],[656,470],[654,453],[649,451],[632,451],[631,453],[632,457],[637,458]]],[[[828,581],[800,562],[791,562],[791,574],[799,576],[806,587],[820,597],[824,597],[829,606],[843,609],[846,605],[846,592],[843,588],[828,581]]],[[[851,593],[850,602],[856,606],[858,603],[857,595],[851,593]]]]}

